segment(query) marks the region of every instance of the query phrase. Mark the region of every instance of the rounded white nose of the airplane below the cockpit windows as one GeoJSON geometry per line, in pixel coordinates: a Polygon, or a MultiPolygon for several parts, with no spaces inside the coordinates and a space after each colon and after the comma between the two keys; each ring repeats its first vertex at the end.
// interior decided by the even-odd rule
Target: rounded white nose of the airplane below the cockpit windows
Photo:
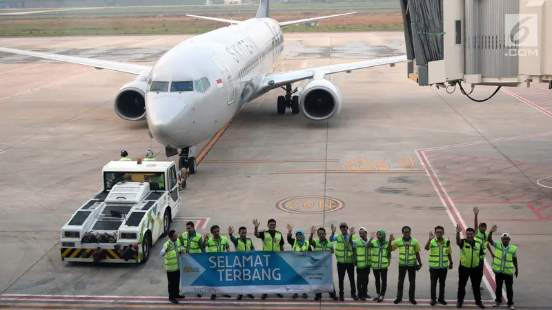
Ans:
{"type": "Polygon", "coordinates": [[[185,134],[190,122],[188,106],[178,96],[149,94],[148,127],[159,143],[173,147],[178,144],[175,137],[185,134]]]}

